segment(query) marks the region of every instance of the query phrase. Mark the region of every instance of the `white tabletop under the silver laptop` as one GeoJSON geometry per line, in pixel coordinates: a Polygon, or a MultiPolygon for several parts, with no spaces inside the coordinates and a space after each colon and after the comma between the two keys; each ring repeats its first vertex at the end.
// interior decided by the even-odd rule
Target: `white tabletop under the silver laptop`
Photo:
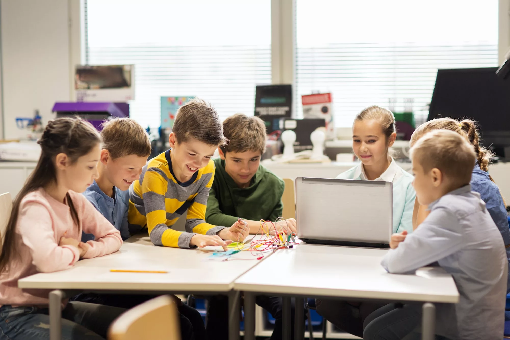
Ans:
{"type": "Polygon", "coordinates": [[[453,278],[440,268],[387,273],[387,250],[301,244],[281,249],[243,274],[234,289],[272,294],[401,301],[458,302],[453,278]]]}

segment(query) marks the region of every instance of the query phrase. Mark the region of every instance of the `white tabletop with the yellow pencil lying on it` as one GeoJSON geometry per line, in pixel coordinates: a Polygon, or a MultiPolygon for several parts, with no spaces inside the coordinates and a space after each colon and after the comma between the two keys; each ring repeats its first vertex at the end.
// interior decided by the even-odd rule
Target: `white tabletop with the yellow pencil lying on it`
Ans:
{"type": "MultiPolygon", "coordinates": [[[[152,245],[145,235],[124,241],[116,253],[78,261],[73,268],[39,273],[18,281],[20,288],[170,290],[174,292],[227,292],[234,280],[262,260],[243,251],[224,262],[210,261],[214,249],[176,249],[152,245]],[[111,269],[168,271],[112,273],[111,269]]],[[[270,253],[265,254],[267,258],[270,253]]]]}

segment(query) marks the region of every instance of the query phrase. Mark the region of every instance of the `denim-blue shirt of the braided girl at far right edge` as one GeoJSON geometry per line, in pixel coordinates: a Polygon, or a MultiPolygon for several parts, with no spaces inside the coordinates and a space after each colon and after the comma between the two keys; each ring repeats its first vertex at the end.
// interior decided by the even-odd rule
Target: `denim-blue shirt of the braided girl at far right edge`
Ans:
{"type": "Polygon", "coordinates": [[[508,214],[498,186],[491,181],[488,172],[480,169],[478,162],[476,162],[471,175],[471,188],[480,194],[480,198],[485,202],[487,211],[491,214],[492,220],[503,237],[509,270],[506,293],[510,293],[510,228],[508,228],[508,214]]]}

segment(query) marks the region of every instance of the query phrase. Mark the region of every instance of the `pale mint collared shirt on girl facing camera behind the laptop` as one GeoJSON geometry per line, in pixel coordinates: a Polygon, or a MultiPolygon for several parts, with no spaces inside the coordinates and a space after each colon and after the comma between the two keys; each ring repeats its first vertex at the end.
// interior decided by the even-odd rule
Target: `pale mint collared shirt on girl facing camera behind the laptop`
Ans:
{"type": "MultiPolygon", "coordinates": [[[[368,180],[363,163],[338,175],[337,179],[368,180]]],[[[413,209],[416,191],[413,188],[413,175],[402,169],[392,158],[390,166],[374,181],[393,183],[393,232],[407,230],[413,232],[413,209]]]]}

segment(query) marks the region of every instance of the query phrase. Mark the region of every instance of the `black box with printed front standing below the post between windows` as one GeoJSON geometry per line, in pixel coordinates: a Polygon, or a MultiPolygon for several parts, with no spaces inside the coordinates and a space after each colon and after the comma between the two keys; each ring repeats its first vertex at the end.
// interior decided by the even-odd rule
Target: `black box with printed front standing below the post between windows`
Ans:
{"type": "Polygon", "coordinates": [[[292,117],[292,85],[256,86],[255,115],[264,120],[268,134],[279,130],[279,120],[292,117]]]}

